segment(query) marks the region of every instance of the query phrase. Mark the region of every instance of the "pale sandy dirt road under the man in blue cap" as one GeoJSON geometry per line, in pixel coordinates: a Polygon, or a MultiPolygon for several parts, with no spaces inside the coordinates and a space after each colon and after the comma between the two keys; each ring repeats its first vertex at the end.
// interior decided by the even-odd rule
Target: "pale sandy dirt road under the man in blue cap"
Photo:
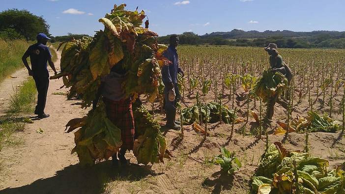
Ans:
{"type": "MultiPolygon", "coordinates": [[[[56,67],[59,67],[59,58],[60,53],[55,63],[56,67]]],[[[50,71],[51,75],[52,73],[50,71]]],[[[16,87],[23,83],[28,78],[27,74],[27,70],[19,70],[12,75],[17,78],[6,79],[1,83],[1,111],[8,105],[9,94],[13,92],[12,85],[16,87]]],[[[3,165],[0,171],[0,190],[14,188],[5,189],[0,193],[62,193],[64,189],[70,190],[67,185],[76,184],[76,180],[69,182],[67,178],[79,173],[73,171],[73,165],[78,163],[78,158],[76,155],[70,155],[74,135],[63,133],[63,129],[68,120],[81,116],[86,111],[79,108],[78,101],[67,101],[64,95],[52,94],[65,92],[66,89],[59,89],[61,85],[61,79],[50,81],[45,109],[50,117],[36,120],[33,124],[28,124],[24,132],[16,134],[18,138],[23,139],[23,145],[5,147],[0,152],[3,165]],[[40,128],[43,133],[36,133],[40,128]],[[66,166],[70,167],[62,170],[66,166]],[[59,171],[61,172],[57,173],[59,171]]]]}

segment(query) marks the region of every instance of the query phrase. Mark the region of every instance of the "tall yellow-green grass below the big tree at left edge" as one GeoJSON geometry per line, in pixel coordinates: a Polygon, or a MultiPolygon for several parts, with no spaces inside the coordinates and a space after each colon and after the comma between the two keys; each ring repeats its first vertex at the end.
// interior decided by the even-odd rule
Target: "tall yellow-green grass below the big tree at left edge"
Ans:
{"type": "Polygon", "coordinates": [[[0,82],[17,69],[24,67],[22,56],[30,43],[25,40],[0,39],[0,82]]]}

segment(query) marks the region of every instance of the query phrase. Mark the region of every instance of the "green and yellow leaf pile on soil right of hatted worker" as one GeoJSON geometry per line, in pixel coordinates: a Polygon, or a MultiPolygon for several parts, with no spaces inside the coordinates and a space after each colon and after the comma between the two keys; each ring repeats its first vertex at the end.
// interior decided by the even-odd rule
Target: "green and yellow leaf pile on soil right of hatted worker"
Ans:
{"type": "MultiPolygon", "coordinates": [[[[277,122],[280,127],[276,129],[275,135],[285,134],[288,125],[283,122],[277,122]]],[[[336,133],[340,125],[334,119],[328,116],[320,116],[316,111],[308,111],[307,117],[297,115],[292,119],[289,132],[304,133],[308,132],[326,132],[336,133]]]]}

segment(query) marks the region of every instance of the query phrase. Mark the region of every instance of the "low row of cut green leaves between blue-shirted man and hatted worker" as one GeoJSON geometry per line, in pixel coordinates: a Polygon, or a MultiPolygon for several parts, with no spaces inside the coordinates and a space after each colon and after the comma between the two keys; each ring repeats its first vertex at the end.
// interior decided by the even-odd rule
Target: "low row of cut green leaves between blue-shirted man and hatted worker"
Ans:
{"type": "Polygon", "coordinates": [[[216,102],[200,103],[193,105],[192,107],[185,108],[182,110],[183,122],[185,124],[193,124],[194,122],[215,123],[220,121],[219,111],[222,111],[222,121],[229,124],[232,123],[234,112],[230,110],[226,105],[220,105],[216,102]],[[207,116],[206,116],[207,107],[207,116]]]}

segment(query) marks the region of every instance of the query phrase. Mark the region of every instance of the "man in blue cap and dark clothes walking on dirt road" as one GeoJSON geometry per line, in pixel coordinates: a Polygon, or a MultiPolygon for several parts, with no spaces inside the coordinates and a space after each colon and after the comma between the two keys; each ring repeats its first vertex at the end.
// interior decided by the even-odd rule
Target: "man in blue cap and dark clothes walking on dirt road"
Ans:
{"type": "Polygon", "coordinates": [[[46,34],[39,33],[37,35],[37,43],[29,46],[22,57],[23,63],[29,71],[29,76],[32,76],[36,83],[38,97],[35,114],[37,114],[40,119],[49,117],[49,114],[44,113],[49,86],[47,62],[49,62],[49,66],[53,69],[54,73],[57,74],[57,70],[55,70],[52,61],[52,54],[50,53],[49,47],[46,46],[48,40],[50,40],[50,38],[46,34]],[[30,69],[27,61],[29,56],[32,69],[30,69]]]}

